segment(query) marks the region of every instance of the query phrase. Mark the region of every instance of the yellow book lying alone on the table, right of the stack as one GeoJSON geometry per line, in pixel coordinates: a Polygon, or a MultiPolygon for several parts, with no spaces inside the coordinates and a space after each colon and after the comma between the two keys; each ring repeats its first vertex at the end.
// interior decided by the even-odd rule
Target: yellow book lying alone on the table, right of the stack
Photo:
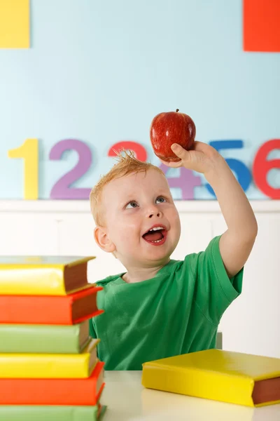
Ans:
{"type": "Polygon", "coordinates": [[[280,359],[208,349],[143,364],[150,389],[236,403],[280,403],[280,359]]]}

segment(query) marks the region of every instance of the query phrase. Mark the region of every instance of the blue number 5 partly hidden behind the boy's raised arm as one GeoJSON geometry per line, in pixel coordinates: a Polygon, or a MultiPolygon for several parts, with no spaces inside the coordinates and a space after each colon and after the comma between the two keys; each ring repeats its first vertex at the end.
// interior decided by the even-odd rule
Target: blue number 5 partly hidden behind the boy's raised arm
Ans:
{"type": "MultiPolygon", "coordinates": [[[[244,144],[243,140],[213,140],[212,142],[209,142],[209,145],[219,152],[221,149],[241,149],[244,144]]],[[[249,169],[238,159],[227,158],[225,161],[228,163],[230,169],[236,173],[239,184],[242,189],[244,189],[244,192],[246,192],[252,180],[249,169]]],[[[216,196],[211,185],[207,183],[205,187],[211,194],[216,196]]]]}

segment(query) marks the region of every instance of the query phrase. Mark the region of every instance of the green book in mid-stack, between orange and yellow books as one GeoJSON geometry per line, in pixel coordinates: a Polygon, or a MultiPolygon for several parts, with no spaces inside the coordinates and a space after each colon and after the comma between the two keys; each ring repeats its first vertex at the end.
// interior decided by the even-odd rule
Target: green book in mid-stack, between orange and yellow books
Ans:
{"type": "Polygon", "coordinates": [[[76,325],[0,323],[1,354],[80,354],[89,339],[88,320],[76,325]]]}

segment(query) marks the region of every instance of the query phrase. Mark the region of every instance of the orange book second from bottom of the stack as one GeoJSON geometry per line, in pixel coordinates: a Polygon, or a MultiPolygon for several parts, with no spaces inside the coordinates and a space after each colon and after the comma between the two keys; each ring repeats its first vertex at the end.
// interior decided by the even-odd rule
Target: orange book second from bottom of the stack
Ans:
{"type": "Polygon", "coordinates": [[[104,389],[104,363],[83,379],[0,379],[0,405],[94,406],[104,389]]]}

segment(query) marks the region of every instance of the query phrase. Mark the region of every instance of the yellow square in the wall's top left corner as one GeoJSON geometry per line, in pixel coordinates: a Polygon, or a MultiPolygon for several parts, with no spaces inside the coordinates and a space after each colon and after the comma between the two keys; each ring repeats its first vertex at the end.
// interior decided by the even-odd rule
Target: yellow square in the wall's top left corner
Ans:
{"type": "Polygon", "coordinates": [[[29,48],[29,0],[0,0],[0,48],[29,48]]]}

